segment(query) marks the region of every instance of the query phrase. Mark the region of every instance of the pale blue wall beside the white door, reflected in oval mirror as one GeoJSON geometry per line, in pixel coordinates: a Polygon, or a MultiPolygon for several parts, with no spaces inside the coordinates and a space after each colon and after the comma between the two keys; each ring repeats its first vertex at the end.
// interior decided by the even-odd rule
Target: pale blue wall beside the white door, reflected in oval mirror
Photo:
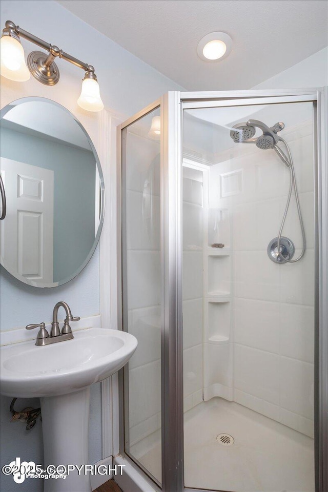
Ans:
{"type": "Polygon", "coordinates": [[[1,157],[54,171],[53,281],[67,278],[84,263],[94,242],[93,153],[1,128],[1,157]]]}

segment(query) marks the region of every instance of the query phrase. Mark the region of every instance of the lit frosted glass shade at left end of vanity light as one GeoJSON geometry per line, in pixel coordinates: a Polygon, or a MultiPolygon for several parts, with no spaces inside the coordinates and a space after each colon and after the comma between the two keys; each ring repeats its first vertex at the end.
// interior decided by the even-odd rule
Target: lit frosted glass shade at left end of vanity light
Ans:
{"type": "Polygon", "coordinates": [[[12,36],[1,38],[0,71],[3,77],[16,82],[25,82],[31,76],[25,63],[23,46],[12,36]]]}

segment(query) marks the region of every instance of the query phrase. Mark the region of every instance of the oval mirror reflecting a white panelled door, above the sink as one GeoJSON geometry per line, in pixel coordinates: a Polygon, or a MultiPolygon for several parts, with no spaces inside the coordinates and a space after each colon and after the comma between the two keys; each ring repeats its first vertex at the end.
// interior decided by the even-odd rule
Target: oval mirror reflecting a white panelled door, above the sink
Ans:
{"type": "Polygon", "coordinates": [[[104,178],[75,116],[41,97],[1,110],[1,264],[18,280],[56,287],[86,266],[104,220],[104,178]]]}

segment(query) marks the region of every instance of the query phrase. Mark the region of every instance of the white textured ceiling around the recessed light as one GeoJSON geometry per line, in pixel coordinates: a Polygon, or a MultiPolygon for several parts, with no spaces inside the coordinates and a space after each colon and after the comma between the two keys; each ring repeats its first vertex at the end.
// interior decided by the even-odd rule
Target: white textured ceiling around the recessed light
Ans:
{"type": "Polygon", "coordinates": [[[327,46],[326,0],[57,1],[187,90],[248,89],[327,46]],[[213,31],[233,51],[200,60],[197,44],[213,31]]]}

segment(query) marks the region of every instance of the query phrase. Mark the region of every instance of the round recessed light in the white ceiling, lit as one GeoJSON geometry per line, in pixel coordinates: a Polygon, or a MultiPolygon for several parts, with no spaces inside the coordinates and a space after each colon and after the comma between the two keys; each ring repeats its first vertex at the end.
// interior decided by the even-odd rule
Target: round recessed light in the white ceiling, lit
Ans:
{"type": "Polygon", "coordinates": [[[197,46],[199,58],[206,61],[226,58],[232,50],[232,39],[225,32],[211,32],[202,37],[197,46]]]}

